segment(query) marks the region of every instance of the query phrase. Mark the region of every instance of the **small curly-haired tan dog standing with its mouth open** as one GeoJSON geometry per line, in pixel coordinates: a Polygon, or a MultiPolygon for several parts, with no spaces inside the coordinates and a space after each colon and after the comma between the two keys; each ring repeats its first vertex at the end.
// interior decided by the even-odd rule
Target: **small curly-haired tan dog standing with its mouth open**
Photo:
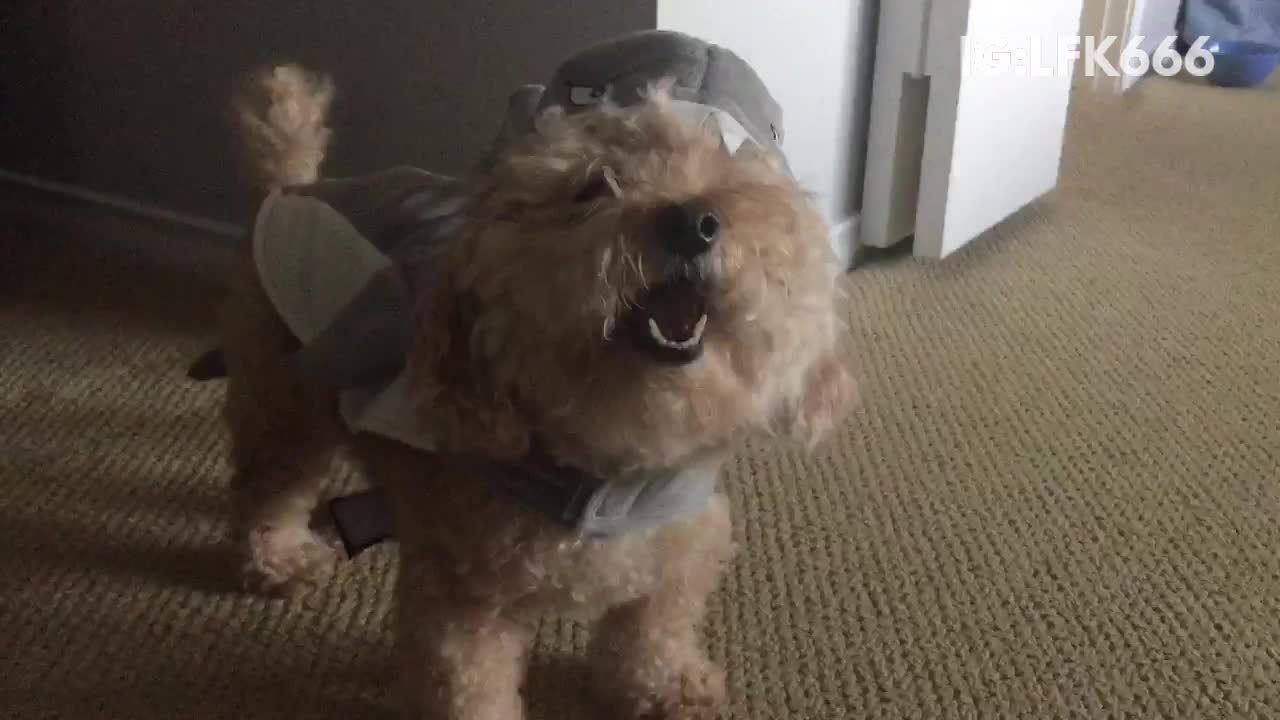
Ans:
{"type": "MultiPolygon", "coordinates": [[[[328,86],[282,69],[260,90],[246,108],[266,182],[315,181],[328,86]]],[[[731,152],[660,91],[544,113],[457,187],[449,240],[408,270],[408,397],[434,452],[353,433],[291,361],[300,340],[256,268],[234,283],[221,347],[246,578],[278,592],[334,561],[308,521],[348,446],[396,516],[407,716],[524,717],[531,629],[570,614],[595,623],[605,716],[712,717],[724,683],[698,626],[731,556],[724,496],[584,537],[493,468],[536,452],[602,478],[714,477],[750,433],[820,441],[850,397],[828,231],[776,154],[731,152]]]]}

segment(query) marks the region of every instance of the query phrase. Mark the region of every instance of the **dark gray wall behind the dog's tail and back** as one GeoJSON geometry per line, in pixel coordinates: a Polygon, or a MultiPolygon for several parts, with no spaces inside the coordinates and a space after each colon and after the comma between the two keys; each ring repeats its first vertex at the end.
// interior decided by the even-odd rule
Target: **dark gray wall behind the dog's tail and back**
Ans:
{"type": "Polygon", "coordinates": [[[9,0],[0,169],[237,220],[227,97],[243,72],[334,76],[326,172],[456,172],[507,95],[573,49],[654,27],[657,0],[9,0]]]}

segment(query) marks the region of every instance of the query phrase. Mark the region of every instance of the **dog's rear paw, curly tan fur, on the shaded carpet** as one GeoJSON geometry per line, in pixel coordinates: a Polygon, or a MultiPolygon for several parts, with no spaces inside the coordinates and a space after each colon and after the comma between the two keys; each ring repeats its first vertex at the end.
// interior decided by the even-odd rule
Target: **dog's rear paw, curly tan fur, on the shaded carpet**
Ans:
{"type": "Polygon", "coordinates": [[[250,591],[291,596],[328,578],[337,560],[310,528],[261,525],[248,533],[241,579],[250,591]]]}

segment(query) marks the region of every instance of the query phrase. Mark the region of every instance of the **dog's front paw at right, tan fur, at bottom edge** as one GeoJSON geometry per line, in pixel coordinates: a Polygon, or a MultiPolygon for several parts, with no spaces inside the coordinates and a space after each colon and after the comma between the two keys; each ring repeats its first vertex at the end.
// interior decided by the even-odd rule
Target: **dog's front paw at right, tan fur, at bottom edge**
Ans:
{"type": "Polygon", "coordinates": [[[713,720],[724,705],[724,671],[710,661],[684,667],[650,666],[628,678],[617,715],[634,720],[713,720]]]}

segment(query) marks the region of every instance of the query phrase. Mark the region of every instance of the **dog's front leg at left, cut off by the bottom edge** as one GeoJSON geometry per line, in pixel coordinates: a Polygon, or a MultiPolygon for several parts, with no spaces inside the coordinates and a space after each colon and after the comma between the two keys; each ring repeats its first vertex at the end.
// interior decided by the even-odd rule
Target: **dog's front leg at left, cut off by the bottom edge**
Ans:
{"type": "Polygon", "coordinates": [[[521,720],[530,630],[497,611],[401,598],[406,720],[521,720]]]}

